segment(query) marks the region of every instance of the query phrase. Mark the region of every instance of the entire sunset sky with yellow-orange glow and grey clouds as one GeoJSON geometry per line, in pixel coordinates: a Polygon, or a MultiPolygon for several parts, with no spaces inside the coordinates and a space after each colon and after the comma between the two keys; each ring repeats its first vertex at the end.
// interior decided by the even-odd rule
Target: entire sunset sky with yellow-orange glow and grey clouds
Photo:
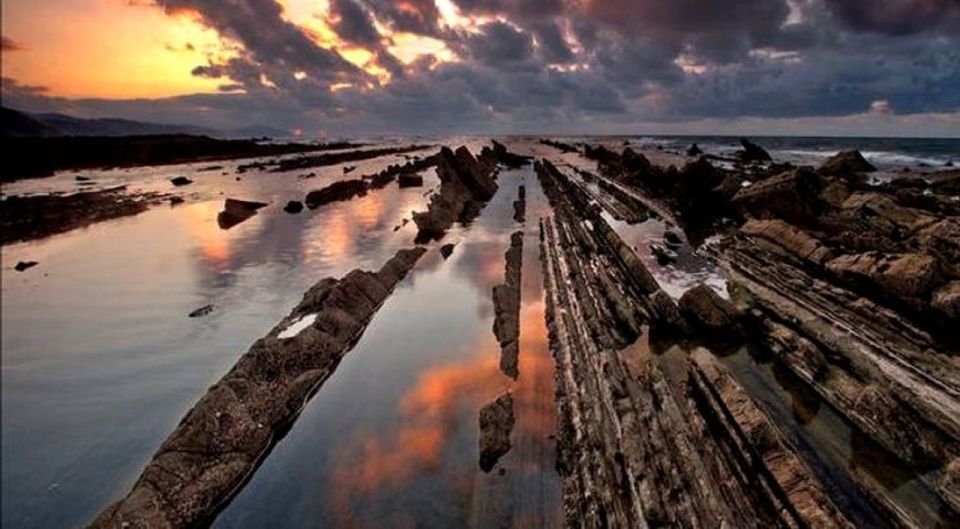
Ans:
{"type": "Polygon", "coordinates": [[[960,137],[960,0],[3,0],[19,110],[305,136],[960,137]]]}

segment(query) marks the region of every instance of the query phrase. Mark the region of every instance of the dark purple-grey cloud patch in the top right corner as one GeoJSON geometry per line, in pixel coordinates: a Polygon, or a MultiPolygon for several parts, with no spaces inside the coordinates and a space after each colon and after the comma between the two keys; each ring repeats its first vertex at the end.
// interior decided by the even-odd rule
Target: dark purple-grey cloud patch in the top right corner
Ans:
{"type": "Polygon", "coordinates": [[[825,0],[843,24],[857,31],[908,35],[945,29],[960,33],[958,0],[825,0]]]}

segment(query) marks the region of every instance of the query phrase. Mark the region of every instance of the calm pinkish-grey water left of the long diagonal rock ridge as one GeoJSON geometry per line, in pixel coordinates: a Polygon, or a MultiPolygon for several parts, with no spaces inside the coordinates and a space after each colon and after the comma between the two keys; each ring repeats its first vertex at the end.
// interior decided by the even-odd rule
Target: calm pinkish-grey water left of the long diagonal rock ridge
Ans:
{"type": "MultiPolygon", "coordinates": [[[[167,171],[145,169],[144,185],[167,171]]],[[[119,498],[206,388],[310,285],[378,269],[409,247],[413,224],[394,228],[424,209],[428,189],[394,185],[289,215],[282,203],[314,184],[190,176],[198,197],[186,204],[4,247],[4,527],[80,525],[119,498]],[[274,203],[224,231],[222,199],[205,198],[216,189],[274,203]],[[18,260],[40,264],[16,273],[18,260]],[[187,317],[210,303],[209,315],[187,317]]]]}

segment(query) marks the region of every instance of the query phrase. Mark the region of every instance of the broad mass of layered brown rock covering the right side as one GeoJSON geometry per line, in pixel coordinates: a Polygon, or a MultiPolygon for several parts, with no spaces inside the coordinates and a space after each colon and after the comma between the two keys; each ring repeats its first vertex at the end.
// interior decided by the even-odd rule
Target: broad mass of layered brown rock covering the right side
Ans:
{"type": "MultiPolygon", "coordinates": [[[[538,161],[553,209],[541,224],[541,258],[572,526],[849,527],[856,519],[923,527],[957,517],[949,465],[960,446],[960,373],[948,328],[957,323],[960,231],[949,195],[928,183],[952,176],[870,186],[859,153],[817,170],[766,154],[742,154],[733,169],[706,159],[675,169],[588,145],[598,173],[578,169],[590,174],[583,183],[538,161]],[[587,188],[598,181],[633,202],[611,206],[587,188]],[[913,189],[927,192],[904,192],[913,189]],[[688,240],[708,240],[700,251],[726,272],[730,301],[701,285],[678,306],[643,279],[597,214],[625,217],[618,208],[636,204],[677,221],[688,240]],[[786,441],[793,434],[767,418],[719,357],[655,346],[664,329],[684,343],[770,355],[936,492],[905,500],[872,473],[834,469],[880,513],[848,518],[849,506],[831,503],[821,483],[830,474],[811,470],[817,459],[795,451],[786,441]],[[937,483],[924,477],[929,469],[938,469],[937,483]],[[684,475],[698,480],[674,477],[684,475]]],[[[683,238],[642,251],[656,257],[671,244],[683,238]]]]}

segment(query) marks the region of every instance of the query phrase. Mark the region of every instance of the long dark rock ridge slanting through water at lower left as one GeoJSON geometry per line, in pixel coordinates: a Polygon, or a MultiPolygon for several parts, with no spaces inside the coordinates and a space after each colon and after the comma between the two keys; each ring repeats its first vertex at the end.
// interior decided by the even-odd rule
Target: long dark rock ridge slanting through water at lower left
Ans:
{"type": "Polygon", "coordinates": [[[326,278],[257,340],[187,413],[131,491],[91,527],[209,523],[283,436],[306,401],[426,250],[400,250],[378,272],[326,278]],[[304,317],[310,325],[281,335],[304,317]]]}

